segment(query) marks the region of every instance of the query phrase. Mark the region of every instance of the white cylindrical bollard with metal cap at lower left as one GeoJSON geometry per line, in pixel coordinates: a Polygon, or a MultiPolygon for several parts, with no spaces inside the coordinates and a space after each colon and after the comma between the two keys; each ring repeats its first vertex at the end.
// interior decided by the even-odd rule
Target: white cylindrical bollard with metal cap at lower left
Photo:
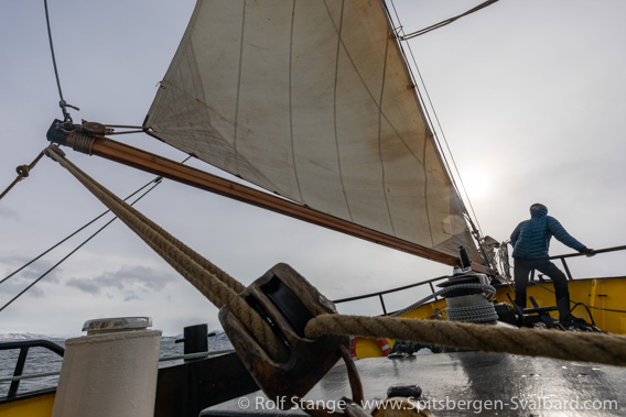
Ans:
{"type": "Polygon", "coordinates": [[[89,320],[67,339],[53,417],[152,417],[161,331],[148,317],[89,320]]]}

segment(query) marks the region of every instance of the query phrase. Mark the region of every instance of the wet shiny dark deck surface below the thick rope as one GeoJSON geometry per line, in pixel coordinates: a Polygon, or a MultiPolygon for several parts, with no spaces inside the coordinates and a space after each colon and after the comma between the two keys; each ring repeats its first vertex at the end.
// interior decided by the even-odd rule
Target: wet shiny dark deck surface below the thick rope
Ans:
{"type": "MultiPolygon", "coordinates": [[[[623,416],[626,409],[626,369],[619,366],[482,352],[369,358],[356,365],[369,405],[386,398],[389,386],[419,385],[424,405],[436,416],[623,416]]],[[[344,396],[350,392],[342,365],[305,396],[305,404],[333,408],[344,396]]],[[[260,391],[201,414],[242,415],[306,414],[299,408],[278,410],[260,391]]]]}

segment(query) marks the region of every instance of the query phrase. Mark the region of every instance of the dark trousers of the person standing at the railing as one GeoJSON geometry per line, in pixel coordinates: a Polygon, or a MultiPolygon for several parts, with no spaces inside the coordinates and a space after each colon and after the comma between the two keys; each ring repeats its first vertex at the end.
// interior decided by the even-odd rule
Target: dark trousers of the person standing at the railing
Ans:
{"type": "Polygon", "coordinates": [[[548,259],[515,259],[515,304],[520,308],[526,308],[526,288],[528,287],[528,276],[532,270],[537,270],[552,279],[557,297],[557,307],[559,307],[559,316],[561,319],[568,317],[570,315],[568,277],[548,259]]]}

